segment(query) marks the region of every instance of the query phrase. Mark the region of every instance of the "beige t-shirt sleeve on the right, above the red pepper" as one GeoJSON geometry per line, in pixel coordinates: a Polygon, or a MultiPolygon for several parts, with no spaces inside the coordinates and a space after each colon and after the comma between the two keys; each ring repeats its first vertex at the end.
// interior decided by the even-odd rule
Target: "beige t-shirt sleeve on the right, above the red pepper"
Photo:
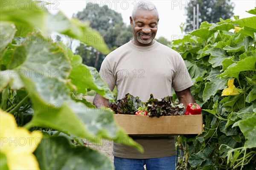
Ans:
{"type": "Polygon", "coordinates": [[[184,89],[189,88],[192,85],[193,82],[186,68],[186,64],[183,61],[183,58],[179,55],[175,69],[175,75],[172,80],[172,87],[175,91],[180,92],[184,89]]]}

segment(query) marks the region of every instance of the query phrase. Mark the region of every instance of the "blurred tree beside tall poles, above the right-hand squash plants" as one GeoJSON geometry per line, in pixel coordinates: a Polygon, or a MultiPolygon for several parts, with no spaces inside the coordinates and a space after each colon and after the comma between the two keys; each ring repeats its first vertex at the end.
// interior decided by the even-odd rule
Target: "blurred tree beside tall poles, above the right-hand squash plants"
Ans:
{"type": "Polygon", "coordinates": [[[224,20],[233,16],[234,4],[230,0],[190,0],[187,8],[185,31],[193,29],[193,8],[199,4],[199,25],[201,22],[217,23],[219,18],[224,20]]]}

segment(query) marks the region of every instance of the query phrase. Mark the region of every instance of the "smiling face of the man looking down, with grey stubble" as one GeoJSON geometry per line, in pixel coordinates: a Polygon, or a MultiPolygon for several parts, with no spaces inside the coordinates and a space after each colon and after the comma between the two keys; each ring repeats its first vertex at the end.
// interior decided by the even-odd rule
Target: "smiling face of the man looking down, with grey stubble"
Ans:
{"type": "Polygon", "coordinates": [[[130,17],[133,28],[134,43],[137,46],[150,46],[157,34],[158,17],[156,10],[138,9],[134,15],[134,20],[130,17]]]}

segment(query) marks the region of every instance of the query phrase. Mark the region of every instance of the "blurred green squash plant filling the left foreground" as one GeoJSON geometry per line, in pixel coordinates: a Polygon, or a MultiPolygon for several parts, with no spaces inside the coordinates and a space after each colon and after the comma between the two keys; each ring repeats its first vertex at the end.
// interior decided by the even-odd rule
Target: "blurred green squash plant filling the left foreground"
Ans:
{"type": "MultiPolygon", "coordinates": [[[[125,139],[125,144],[143,148],[117,127],[113,112],[96,109],[83,97],[93,89],[113,100],[96,69],[82,64],[79,55],[51,37],[67,35],[105,54],[109,49],[88,23],[68,19],[62,12],[50,14],[46,5],[42,1],[1,1],[1,114],[9,112],[18,126],[44,133],[34,152],[41,169],[113,169],[106,156],[85,147],[82,139],[97,143],[103,138],[118,143],[125,139]]],[[[8,169],[8,162],[1,153],[0,169],[8,169]]]]}

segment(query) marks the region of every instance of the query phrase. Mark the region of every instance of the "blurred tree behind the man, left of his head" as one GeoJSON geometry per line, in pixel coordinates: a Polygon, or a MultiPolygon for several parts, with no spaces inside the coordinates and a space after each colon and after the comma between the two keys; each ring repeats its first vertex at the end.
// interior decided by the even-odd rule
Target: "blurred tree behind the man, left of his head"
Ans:
{"type": "MultiPolygon", "coordinates": [[[[93,4],[86,6],[83,11],[74,14],[73,17],[81,21],[89,21],[90,27],[101,33],[111,51],[127,43],[133,37],[131,29],[122,21],[121,14],[106,5],[93,4]]],[[[99,70],[105,58],[105,55],[83,43],[76,48],[76,54],[82,56],[84,64],[93,66],[97,70],[99,70]]]]}

